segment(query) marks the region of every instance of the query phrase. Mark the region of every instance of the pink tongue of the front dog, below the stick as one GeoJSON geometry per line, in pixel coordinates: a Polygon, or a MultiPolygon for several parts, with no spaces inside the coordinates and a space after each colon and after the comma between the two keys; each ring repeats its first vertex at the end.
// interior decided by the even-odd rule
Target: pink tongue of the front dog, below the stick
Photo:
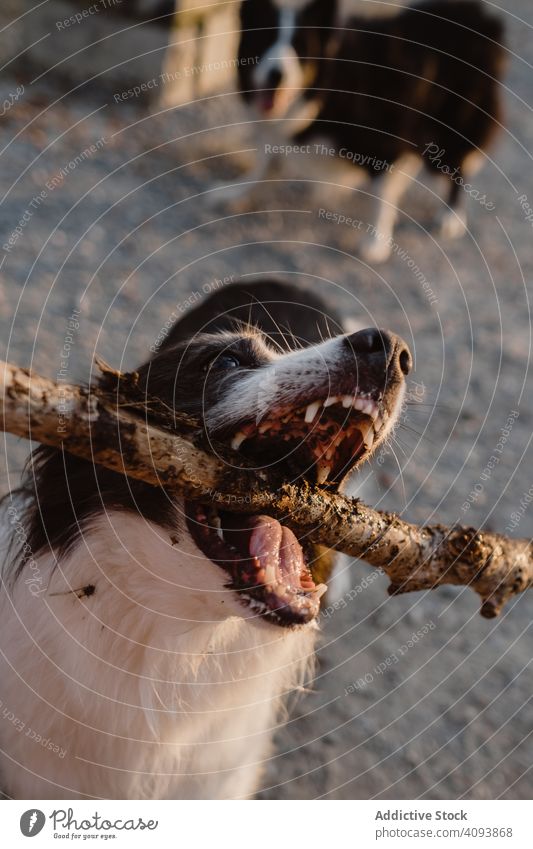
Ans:
{"type": "Polygon", "coordinates": [[[289,528],[284,528],[271,516],[253,516],[248,519],[234,514],[224,524],[224,535],[245,557],[254,557],[264,570],[264,583],[278,582],[295,589],[301,588],[300,576],[305,571],[304,555],[300,543],[289,528]]]}

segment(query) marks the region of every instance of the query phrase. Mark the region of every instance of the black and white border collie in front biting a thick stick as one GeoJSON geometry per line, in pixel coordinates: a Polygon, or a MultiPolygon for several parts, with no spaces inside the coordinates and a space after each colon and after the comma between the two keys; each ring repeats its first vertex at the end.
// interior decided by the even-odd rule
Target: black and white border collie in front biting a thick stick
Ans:
{"type": "MultiPolygon", "coordinates": [[[[232,284],[178,321],[138,386],[228,462],[337,490],[391,433],[411,368],[394,334],[340,330],[292,285],[232,284]]],[[[47,447],[4,519],[4,793],[253,795],[284,697],[312,673],[324,551],[47,447]]]]}

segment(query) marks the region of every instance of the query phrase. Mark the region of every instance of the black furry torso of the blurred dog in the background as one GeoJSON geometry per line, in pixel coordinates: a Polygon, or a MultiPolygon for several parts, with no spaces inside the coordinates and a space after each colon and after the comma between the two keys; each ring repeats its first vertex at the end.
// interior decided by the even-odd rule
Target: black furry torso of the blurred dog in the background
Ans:
{"type": "MultiPolygon", "coordinates": [[[[441,165],[459,168],[483,149],[501,120],[503,25],[475,0],[429,0],[393,18],[352,18],[329,62],[316,121],[340,150],[367,157],[376,173],[402,154],[444,151],[441,165]]],[[[424,157],[426,166],[432,163],[424,157]]],[[[365,167],[365,166],[363,166],[365,167]]]]}

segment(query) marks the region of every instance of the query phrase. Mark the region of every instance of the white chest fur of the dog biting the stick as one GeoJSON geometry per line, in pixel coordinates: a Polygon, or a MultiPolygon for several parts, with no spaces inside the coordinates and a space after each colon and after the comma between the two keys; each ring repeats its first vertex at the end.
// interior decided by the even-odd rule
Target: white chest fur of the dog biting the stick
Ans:
{"type": "Polygon", "coordinates": [[[129,514],[99,519],[53,574],[50,557],[36,562],[42,591],[23,574],[0,596],[0,698],[14,717],[0,724],[4,790],[253,794],[282,698],[309,674],[316,627],[254,616],[188,534],[173,545],[129,514]],[[68,592],[88,584],[91,596],[68,592]]]}

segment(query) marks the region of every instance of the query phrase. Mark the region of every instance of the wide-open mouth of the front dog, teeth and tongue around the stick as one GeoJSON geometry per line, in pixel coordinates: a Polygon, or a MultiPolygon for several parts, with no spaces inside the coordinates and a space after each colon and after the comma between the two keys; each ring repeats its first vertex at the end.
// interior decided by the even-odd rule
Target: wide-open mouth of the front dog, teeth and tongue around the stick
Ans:
{"type": "MultiPolygon", "coordinates": [[[[260,467],[283,464],[286,479],[305,477],[338,486],[371,453],[387,419],[369,395],[335,395],[290,409],[272,410],[229,437],[260,467]]],[[[302,625],[319,612],[324,584],[311,574],[314,546],[270,516],[243,515],[186,505],[200,550],[230,576],[243,602],[279,625],[302,625]]]]}

